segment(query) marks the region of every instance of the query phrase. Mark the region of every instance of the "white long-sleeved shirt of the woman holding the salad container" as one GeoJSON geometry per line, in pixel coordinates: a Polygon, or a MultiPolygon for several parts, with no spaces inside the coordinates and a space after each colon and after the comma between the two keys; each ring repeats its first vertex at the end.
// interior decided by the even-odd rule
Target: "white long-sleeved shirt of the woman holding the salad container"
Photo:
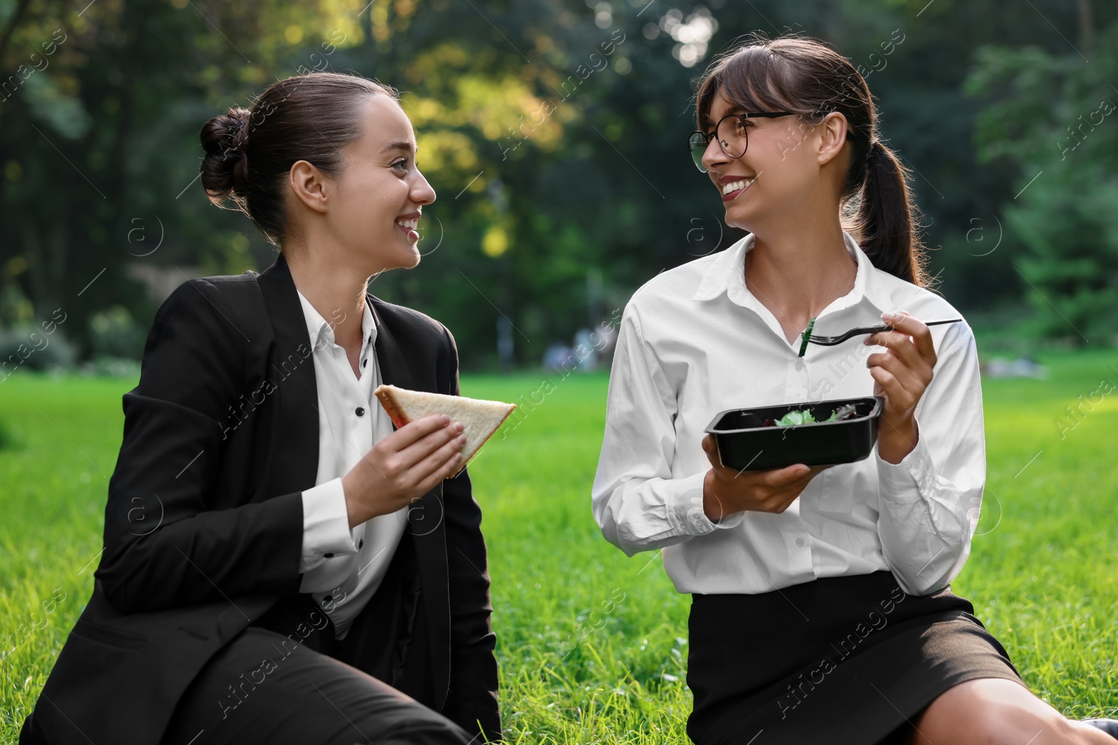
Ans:
{"type": "MultiPolygon", "coordinates": [[[[815,334],[961,315],[942,297],[877,269],[854,239],[854,287],[815,334]]],[[[747,236],[664,271],[625,306],[609,378],[594,516],[626,554],[663,548],[683,593],[762,593],[822,576],[891,570],[910,594],[950,582],[970,552],[986,480],[978,356],[969,325],[931,326],[938,361],[916,409],[916,449],[825,469],[781,514],[703,513],[705,428],[726,409],[873,395],[864,335],[836,346],[788,342],[746,287],[747,236]]]]}

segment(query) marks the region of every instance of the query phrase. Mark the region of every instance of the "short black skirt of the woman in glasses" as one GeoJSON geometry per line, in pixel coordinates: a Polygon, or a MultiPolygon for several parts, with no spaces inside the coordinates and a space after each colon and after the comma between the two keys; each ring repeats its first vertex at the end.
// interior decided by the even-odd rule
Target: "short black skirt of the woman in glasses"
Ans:
{"type": "Polygon", "coordinates": [[[950,586],[909,595],[888,571],[695,594],[689,625],[699,745],[899,743],[951,686],[1024,685],[967,599],[950,586]]]}

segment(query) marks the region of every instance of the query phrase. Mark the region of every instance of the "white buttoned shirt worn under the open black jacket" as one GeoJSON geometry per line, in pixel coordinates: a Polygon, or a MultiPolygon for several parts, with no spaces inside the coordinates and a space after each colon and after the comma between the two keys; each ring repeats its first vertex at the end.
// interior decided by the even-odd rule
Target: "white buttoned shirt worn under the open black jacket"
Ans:
{"type": "MultiPolygon", "coordinates": [[[[296,290],[299,292],[299,290],[296,290]]],[[[319,474],[303,491],[303,551],[300,592],[312,593],[344,639],[353,619],[377,592],[396,553],[408,508],[379,515],[350,529],[341,477],[349,472],[392,422],[372,391],[380,384],[373,346],[377,325],[364,305],[361,318],[360,373],[353,374],[334,329],[299,293],[311,337],[319,390],[319,474]]]]}

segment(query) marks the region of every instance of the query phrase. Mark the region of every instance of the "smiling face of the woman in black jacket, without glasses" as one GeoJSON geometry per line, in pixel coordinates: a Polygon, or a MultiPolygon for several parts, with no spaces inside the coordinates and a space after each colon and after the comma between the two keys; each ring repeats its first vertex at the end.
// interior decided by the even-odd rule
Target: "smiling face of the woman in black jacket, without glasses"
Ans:
{"type": "Polygon", "coordinates": [[[342,171],[331,180],[328,229],[370,275],[414,267],[419,219],[435,191],[416,165],[411,122],[383,95],[370,96],[360,118],[363,132],[342,149],[342,171]]]}

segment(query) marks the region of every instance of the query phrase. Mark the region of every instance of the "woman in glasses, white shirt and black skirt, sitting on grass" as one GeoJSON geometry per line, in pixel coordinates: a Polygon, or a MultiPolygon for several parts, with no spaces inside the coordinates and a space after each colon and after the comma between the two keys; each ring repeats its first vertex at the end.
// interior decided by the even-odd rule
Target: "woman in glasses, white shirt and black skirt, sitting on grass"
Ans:
{"type": "Polygon", "coordinates": [[[626,306],[593,489],[606,538],[661,550],[693,595],[691,738],[1114,742],[1118,723],[1034,696],[950,591],[986,476],[978,360],[966,323],[922,323],[959,314],[925,288],[862,76],[819,42],[759,39],[711,65],[697,117],[695,164],[750,235],[626,306]],[[811,317],[894,331],[800,356],[811,317]],[[727,409],[868,395],[884,407],[856,462],[738,471],[704,434],[727,409]]]}

